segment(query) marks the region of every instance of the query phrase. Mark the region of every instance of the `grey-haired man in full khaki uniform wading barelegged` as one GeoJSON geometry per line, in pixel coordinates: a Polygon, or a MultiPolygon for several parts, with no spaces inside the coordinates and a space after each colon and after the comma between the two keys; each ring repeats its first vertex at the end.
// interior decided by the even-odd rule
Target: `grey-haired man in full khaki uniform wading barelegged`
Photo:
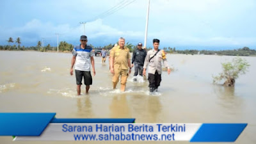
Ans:
{"type": "Polygon", "coordinates": [[[131,56],[129,49],[124,46],[125,39],[119,38],[118,45],[113,47],[110,52],[110,72],[113,74],[113,88],[116,88],[116,84],[121,76],[121,91],[125,91],[125,85],[127,77],[131,74],[131,56]],[[129,74],[128,74],[129,70],[129,74]]]}

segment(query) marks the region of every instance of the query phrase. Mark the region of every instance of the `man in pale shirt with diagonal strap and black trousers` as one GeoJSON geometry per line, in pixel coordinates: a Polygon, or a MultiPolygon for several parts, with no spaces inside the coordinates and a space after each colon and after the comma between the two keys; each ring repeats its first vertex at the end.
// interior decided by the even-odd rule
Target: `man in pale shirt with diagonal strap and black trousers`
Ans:
{"type": "Polygon", "coordinates": [[[144,76],[146,76],[146,68],[148,67],[148,82],[150,92],[154,92],[154,90],[157,91],[158,86],[160,86],[162,80],[162,61],[164,63],[164,67],[167,68],[168,74],[170,74],[171,72],[170,67],[168,66],[168,62],[166,60],[165,52],[158,49],[159,42],[160,40],[158,39],[153,40],[154,49],[148,51],[143,66],[144,76]]]}

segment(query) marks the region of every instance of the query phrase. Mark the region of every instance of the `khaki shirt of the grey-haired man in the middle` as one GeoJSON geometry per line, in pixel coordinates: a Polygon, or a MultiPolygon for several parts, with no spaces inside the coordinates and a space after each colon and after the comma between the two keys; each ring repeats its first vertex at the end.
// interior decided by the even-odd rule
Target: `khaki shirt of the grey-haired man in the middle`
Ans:
{"type": "Polygon", "coordinates": [[[124,69],[127,70],[128,59],[131,59],[129,49],[124,47],[121,49],[120,46],[113,47],[110,52],[110,57],[114,58],[114,69],[124,69]]]}

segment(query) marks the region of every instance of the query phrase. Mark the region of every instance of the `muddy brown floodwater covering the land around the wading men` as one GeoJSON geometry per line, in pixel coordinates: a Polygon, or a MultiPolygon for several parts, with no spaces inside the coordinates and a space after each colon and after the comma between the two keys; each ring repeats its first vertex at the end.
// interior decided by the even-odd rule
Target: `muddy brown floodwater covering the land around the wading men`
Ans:
{"type": "MultiPolygon", "coordinates": [[[[97,56],[90,92],[84,94],[83,86],[81,96],[76,96],[76,77],[69,74],[71,57],[70,53],[0,51],[0,112],[54,112],[57,118],[136,118],[136,123],[248,123],[235,143],[256,143],[256,57],[243,57],[251,65],[249,71],[237,79],[235,88],[228,88],[212,84],[212,74],[221,72],[221,63],[234,56],[168,54],[175,70],[170,75],[163,72],[159,92],[150,95],[147,79],[145,83],[132,82],[133,69],[126,92],[120,92],[120,83],[112,90],[108,60],[102,65],[97,56]]],[[[1,136],[0,143],[14,142],[11,136],[1,136]]]]}

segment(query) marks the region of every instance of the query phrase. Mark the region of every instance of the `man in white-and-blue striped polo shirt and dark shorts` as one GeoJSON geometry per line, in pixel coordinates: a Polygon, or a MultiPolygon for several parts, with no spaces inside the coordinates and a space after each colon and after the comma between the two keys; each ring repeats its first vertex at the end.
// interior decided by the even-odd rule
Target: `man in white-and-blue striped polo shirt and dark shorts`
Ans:
{"type": "Polygon", "coordinates": [[[70,75],[73,75],[73,67],[75,65],[76,70],[76,84],[77,84],[77,95],[81,94],[81,84],[82,79],[84,77],[84,84],[86,85],[86,93],[88,93],[90,89],[90,85],[92,85],[92,75],[91,75],[91,63],[92,63],[92,72],[93,76],[95,76],[95,67],[94,67],[94,52],[92,51],[92,47],[86,45],[87,44],[87,36],[82,35],[80,38],[81,44],[78,47],[74,47],[72,51],[72,60],[71,60],[71,68],[70,75]]]}

